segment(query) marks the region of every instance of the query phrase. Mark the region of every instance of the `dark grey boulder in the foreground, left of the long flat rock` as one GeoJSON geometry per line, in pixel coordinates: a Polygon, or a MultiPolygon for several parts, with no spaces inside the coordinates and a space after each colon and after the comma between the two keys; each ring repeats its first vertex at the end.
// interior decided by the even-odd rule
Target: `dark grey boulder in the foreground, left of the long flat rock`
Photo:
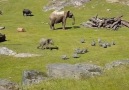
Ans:
{"type": "Polygon", "coordinates": [[[23,85],[38,84],[46,79],[47,77],[43,72],[39,72],[36,70],[26,70],[23,72],[22,84],[23,85]]]}

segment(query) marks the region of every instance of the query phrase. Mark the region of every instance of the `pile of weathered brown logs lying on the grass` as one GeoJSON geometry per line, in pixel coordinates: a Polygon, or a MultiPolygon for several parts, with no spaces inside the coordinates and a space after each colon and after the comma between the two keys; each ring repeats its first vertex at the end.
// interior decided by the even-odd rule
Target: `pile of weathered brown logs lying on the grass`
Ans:
{"type": "Polygon", "coordinates": [[[99,18],[98,15],[96,15],[88,21],[81,23],[81,25],[89,28],[107,28],[112,30],[118,30],[122,26],[129,28],[129,22],[122,20],[122,17],[123,15],[113,18],[99,18]]]}

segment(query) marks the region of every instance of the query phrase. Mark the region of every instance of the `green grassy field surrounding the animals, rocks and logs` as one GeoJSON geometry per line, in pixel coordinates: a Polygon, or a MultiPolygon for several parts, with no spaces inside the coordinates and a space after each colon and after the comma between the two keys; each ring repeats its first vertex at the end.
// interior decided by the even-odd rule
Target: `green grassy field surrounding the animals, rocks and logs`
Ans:
{"type": "MultiPolygon", "coordinates": [[[[129,29],[120,28],[118,31],[106,29],[73,28],[72,20],[67,20],[67,30],[50,30],[47,23],[51,11],[44,12],[43,6],[48,0],[8,0],[0,2],[0,9],[3,15],[0,16],[0,26],[5,26],[5,30],[0,33],[6,34],[7,41],[0,43],[0,47],[7,47],[17,53],[41,54],[40,57],[16,58],[13,56],[0,55],[0,78],[7,78],[17,83],[21,83],[22,72],[24,70],[39,70],[46,72],[47,64],[51,63],[93,63],[104,66],[115,60],[125,60],[129,58],[129,29]],[[22,10],[29,8],[34,16],[22,16],[22,10]],[[26,32],[19,33],[17,27],[23,27],[26,32]],[[52,38],[55,46],[59,50],[37,49],[40,38],[52,38]],[[84,38],[86,43],[81,44],[80,39],[84,38]],[[90,43],[94,39],[101,38],[104,41],[115,41],[116,45],[110,48],[100,48],[98,45],[91,47],[90,43]],[[74,49],[87,48],[88,53],[80,58],[72,58],[74,49]],[[68,55],[70,59],[62,60],[62,55],[68,55]]],[[[99,17],[115,17],[124,15],[123,19],[129,21],[129,6],[121,4],[106,3],[105,0],[92,0],[85,4],[85,7],[67,7],[64,10],[71,10],[76,18],[75,26],[87,21],[89,18],[99,15],[99,17]],[[111,11],[107,11],[111,9],[111,11]]],[[[56,28],[61,24],[55,25],[56,28]]],[[[129,88],[129,66],[106,71],[102,76],[84,80],[49,80],[41,84],[31,86],[25,90],[128,90],[129,88]]]]}

